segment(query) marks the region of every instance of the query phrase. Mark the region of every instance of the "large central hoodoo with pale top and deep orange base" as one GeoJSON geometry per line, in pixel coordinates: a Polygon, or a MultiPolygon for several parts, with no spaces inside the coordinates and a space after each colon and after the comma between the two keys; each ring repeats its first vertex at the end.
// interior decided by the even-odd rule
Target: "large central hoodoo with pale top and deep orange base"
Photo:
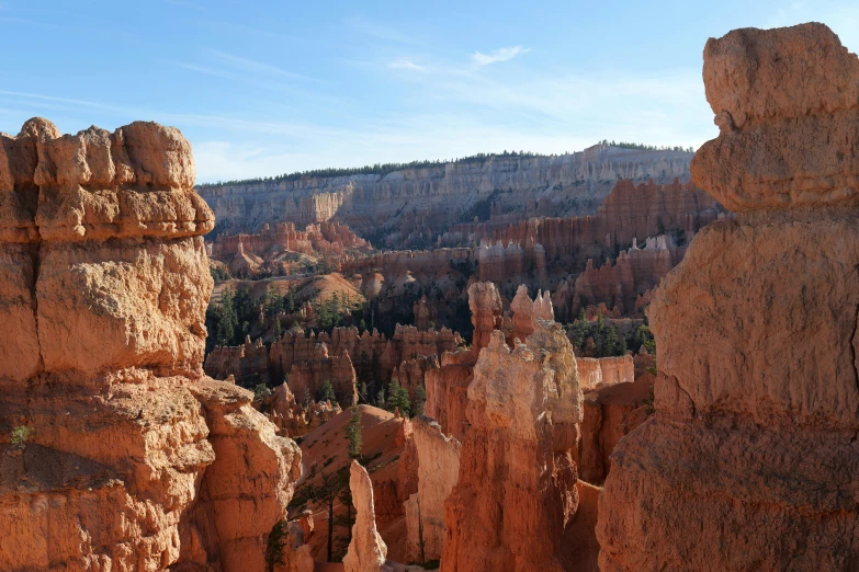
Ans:
{"type": "Polygon", "coordinates": [[[513,350],[494,332],[468,386],[456,487],[445,501],[444,570],[563,570],[578,505],[570,455],[581,420],[573,348],[540,321],[513,350]]]}

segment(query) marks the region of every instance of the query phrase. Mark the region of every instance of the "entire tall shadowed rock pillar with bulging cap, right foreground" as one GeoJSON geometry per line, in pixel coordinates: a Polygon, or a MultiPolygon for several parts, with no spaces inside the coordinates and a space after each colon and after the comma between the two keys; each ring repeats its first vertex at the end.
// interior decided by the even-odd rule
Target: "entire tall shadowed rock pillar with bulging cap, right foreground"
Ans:
{"type": "Polygon", "coordinates": [[[747,28],[703,76],[720,136],[692,172],[741,214],[653,297],[656,414],[612,456],[600,567],[850,570],[859,60],[821,24],[747,28]]]}

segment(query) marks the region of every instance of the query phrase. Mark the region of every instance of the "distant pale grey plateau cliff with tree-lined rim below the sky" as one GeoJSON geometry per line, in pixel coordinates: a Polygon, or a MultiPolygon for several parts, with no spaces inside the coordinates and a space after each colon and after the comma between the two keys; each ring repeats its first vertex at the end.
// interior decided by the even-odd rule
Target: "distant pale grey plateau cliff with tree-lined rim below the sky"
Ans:
{"type": "MultiPolygon", "coordinates": [[[[601,202],[615,181],[689,179],[691,153],[595,146],[557,157],[494,157],[404,169],[386,175],[203,186],[200,194],[225,228],[253,231],[264,222],[338,220],[366,234],[384,227],[396,245],[423,234],[434,240],[479,201],[510,191],[510,207],[552,204],[565,214],[573,198],[601,202]],[[418,216],[415,216],[415,213],[418,216]],[[411,216],[410,219],[407,218],[411,216]]],[[[531,209],[530,215],[538,211],[531,209]]]]}

